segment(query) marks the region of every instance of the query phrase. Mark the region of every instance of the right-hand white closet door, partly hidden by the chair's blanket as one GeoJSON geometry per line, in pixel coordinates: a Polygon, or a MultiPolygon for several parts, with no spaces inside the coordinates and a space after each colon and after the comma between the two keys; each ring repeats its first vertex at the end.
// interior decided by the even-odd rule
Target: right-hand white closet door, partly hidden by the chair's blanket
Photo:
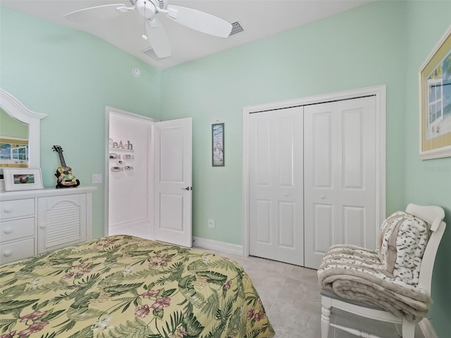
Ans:
{"type": "Polygon", "coordinates": [[[304,107],[304,265],[333,244],[376,246],[376,98],[304,107]]]}

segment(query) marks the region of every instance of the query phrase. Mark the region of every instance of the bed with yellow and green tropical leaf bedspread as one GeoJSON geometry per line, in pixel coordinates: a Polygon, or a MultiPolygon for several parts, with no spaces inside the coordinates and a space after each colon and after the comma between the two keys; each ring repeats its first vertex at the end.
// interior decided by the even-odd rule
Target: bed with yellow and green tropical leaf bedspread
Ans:
{"type": "Polygon", "coordinates": [[[0,267],[0,338],[270,338],[241,265],[117,235],[0,267]]]}

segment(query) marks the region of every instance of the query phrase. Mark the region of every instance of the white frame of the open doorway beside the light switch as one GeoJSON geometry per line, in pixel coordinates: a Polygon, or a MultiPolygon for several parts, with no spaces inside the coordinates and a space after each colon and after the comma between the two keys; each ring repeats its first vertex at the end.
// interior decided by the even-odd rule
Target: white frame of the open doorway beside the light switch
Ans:
{"type": "MultiPolygon", "coordinates": [[[[110,106],[105,106],[105,169],[104,169],[104,236],[108,236],[109,234],[109,180],[110,180],[110,172],[109,172],[109,148],[110,148],[110,114],[116,114],[121,115],[124,118],[130,118],[135,120],[145,120],[150,121],[151,123],[159,122],[159,120],[156,120],[155,118],[149,118],[144,115],[130,113],[129,111],[123,111],[118,108],[113,108],[110,106]]],[[[150,145],[151,153],[153,154],[153,144],[150,145]]],[[[149,154],[149,156],[152,156],[152,154],[149,154]]],[[[154,184],[153,184],[153,177],[152,182],[150,182],[151,186],[149,189],[149,201],[153,205],[153,199],[154,199],[154,184]]],[[[154,226],[153,222],[154,219],[151,219],[152,227],[154,226]]]]}

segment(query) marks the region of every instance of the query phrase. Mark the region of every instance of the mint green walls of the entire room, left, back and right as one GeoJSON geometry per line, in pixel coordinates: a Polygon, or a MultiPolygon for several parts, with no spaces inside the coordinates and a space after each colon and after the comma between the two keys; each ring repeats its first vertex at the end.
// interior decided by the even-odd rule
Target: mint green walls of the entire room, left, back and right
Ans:
{"type": "MultiPolygon", "coordinates": [[[[449,13],[451,1],[377,1],[160,72],[96,37],[0,8],[0,87],[48,115],[46,186],[59,164],[53,144],[63,146],[83,184],[104,173],[106,105],[165,120],[191,116],[193,234],[242,244],[242,108],[386,84],[387,213],[411,201],[438,204],[451,226],[451,158],[419,160],[417,93],[417,71],[450,24],[449,13]],[[139,79],[133,67],[142,70],[139,79]],[[211,168],[216,120],[226,123],[224,168],[211,168]]],[[[104,185],[97,187],[94,237],[103,230],[104,185]]],[[[450,233],[434,269],[438,337],[451,331],[450,233]]]]}

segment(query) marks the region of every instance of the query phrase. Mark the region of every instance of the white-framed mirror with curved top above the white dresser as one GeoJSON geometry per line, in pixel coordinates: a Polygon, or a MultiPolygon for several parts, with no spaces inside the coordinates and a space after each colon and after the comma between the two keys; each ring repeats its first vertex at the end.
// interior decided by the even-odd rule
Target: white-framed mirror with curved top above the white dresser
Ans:
{"type": "Polygon", "coordinates": [[[0,179],[3,168],[40,168],[41,119],[0,89],[0,179]]]}

